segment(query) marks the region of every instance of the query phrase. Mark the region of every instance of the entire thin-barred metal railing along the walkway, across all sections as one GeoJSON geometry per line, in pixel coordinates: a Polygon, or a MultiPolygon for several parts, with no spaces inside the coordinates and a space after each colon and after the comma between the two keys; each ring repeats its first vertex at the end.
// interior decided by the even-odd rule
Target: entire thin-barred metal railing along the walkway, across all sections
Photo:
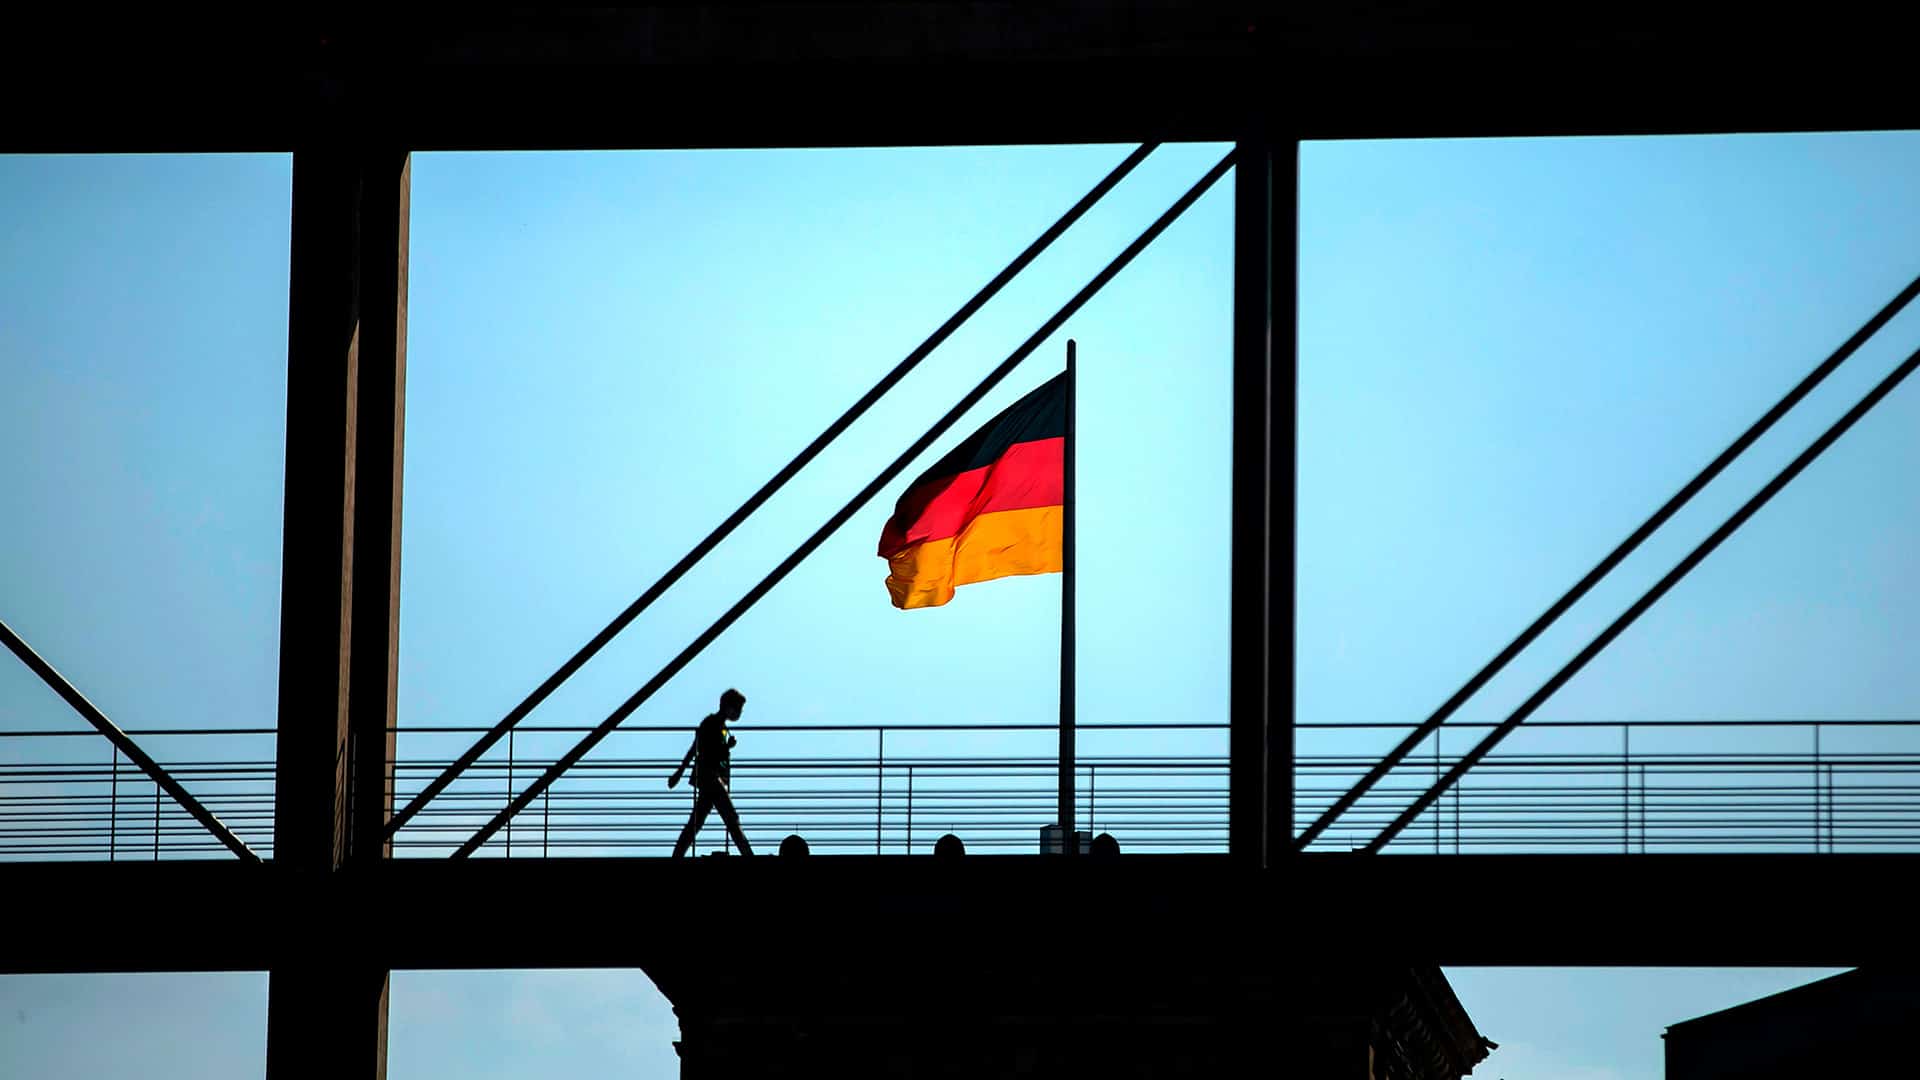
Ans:
{"type": "MultiPolygon", "coordinates": [[[[478,728],[399,728],[397,799],[478,728]]],[[[520,728],[396,836],[401,857],[453,851],[580,726],[520,728]]],[[[1056,817],[1052,724],[735,728],[733,799],[756,851],[789,834],[816,853],[1033,853],[1056,817]]],[[[1300,724],[1302,828],[1405,724],[1300,724]]],[[[1313,849],[1365,844],[1484,724],[1448,724],[1313,849]]],[[[1227,849],[1227,724],[1081,724],[1079,828],[1123,851],[1227,849]]],[[[132,732],[255,851],[273,851],[273,728],[132,732]]],[[[490,857],[664,855],[689,786],[666,788],[691,732],[614,732],[482,849],[490,857]]],[[[219,857],[221,842],[94,732],[0,732],[0,859],[219,857]]],[[[695,853],[732,844],[712,815],[695,853]]],[[[1523,851],[1920,851],[1920,721],[1636,721],[1528,724],[1388,847],[1523,851]]]]}

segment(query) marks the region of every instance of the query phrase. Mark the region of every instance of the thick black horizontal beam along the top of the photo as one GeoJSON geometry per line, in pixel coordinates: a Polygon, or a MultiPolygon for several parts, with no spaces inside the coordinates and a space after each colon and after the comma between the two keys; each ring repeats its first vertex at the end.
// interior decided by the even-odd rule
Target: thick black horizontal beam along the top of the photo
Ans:
{"type": "Polygon", "coordinates": [[[1250,115],[1302,138],[1920,127],[1905,37],[1841,13],[1423,8],[42,8],[12,27],[36,63],[0,92],[35,106],[0,150],[290,150],[342,115],[415,150],[1233,140],[1250,115]]]}

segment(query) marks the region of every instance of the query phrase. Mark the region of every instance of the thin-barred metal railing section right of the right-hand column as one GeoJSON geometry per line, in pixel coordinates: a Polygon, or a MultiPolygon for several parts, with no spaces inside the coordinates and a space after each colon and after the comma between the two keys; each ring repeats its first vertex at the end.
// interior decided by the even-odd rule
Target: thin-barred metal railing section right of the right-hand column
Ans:
{"type": "MultiPolygon", "coordinates": [[[[1448,724],[1309,849],[1359,847],[1492,724],[1448,724]],[[1453,732],[1457,742],[1448,740],[1453,732]],[[1455,746],[1448,751],[1448,746],[1455,746]]],[[[1407,724],[1302,724],[1300,742],[1407,724]]],[[[1486,757],[1388,851],[1920,851],[1920,721],[1563,721],[1486,757]]],[[[1302,830],[1379,753],[1302,753],[1302,830]]]]}

